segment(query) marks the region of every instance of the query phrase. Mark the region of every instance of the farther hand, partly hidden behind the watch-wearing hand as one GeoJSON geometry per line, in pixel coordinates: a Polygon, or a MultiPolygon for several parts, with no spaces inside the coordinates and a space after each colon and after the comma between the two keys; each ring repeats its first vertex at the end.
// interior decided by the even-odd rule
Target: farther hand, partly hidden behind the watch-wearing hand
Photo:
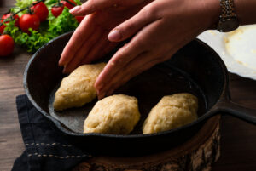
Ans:
{"type": "Polygon", "coordinates": [[[86,16],[61,54],[59,65],[64,66],[63,72],[108,54],[118,44],[108,41],[109,31],[137,14],[148,2],[151,0],[89,0],[73,8],[72,14],[86,16]]]}

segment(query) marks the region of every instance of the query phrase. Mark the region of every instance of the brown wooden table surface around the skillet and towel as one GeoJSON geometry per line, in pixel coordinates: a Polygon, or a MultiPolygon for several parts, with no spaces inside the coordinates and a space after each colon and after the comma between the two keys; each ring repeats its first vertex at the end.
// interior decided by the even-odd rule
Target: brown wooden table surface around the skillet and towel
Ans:
{"type": "MultiPolygon", "coordinates": [[[[15,0],[1,0],[0,14],[15,0]]],[[[25,94],[22,77],[32,54],[16,47],[8,58],[0,58],[0,170],[12,168],[16,157],[24,151],[20,134],[15,97],[25,94]]],[[[256,81],[230,74],[232,99],[241,105],[256,108],[256,81]]],[[[221,157],[212,171],[256,170],[256,127],[233,117],[224,116],[221,123],[221,157]]]]}

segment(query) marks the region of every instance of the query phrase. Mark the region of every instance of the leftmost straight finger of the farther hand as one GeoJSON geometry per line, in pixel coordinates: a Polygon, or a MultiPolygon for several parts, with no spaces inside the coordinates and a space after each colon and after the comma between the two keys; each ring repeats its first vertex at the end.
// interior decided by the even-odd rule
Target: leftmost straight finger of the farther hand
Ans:
{"type": "Polygon", "coordinates": [[[74,31],[72,37],[64,48],[61,59],[59,60],[60,66],[66,66],[74,57],[76,52],[81,48],[84,41],[90,37],[96,29],[92,15],[88,15],[80,23],[79,27],[74,31]]]}

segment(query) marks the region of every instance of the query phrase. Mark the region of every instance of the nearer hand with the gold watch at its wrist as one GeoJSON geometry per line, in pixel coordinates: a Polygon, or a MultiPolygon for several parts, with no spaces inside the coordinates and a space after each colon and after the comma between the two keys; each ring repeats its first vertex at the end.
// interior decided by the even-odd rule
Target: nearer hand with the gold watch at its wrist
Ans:
{"type": "Polygon", "coordinates": [[[98,98],[112,94],[131,77],[170,59],[216,23],[219,10],[216,0],[156,0],[115,27],[108,35],[111,42],[134,37],[113,55],[96,79],[98,98]]]}

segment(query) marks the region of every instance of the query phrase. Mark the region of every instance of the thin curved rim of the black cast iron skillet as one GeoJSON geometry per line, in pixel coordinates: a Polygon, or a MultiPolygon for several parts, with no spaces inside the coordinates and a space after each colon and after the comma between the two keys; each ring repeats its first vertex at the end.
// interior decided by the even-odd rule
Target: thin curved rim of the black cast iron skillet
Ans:
{"type": "Polygon", "coordinates": [[[37,59],[38,54],[41,53],[41,51],[44,50],[44,48],[46,48],[50,43],[54,43],[55,40],[61,38],[61,37],[66,37],[67,35],[73,34],[73,31],[69,31],[67,33],[62,34],[59,37],[55,37],[54,39],[50,40],[48,43],[45,43],[41,48],[38,49],[38,51],[32,55],[31,59],[27,62],[26,64],[26,68],[24,71],[24,75],[23,75],[23,87],[25,89],[25,93],[26,96],[28,97],[28,99],[31,101],[32,105],[41,113],[44,115],[44,117],[46,117],[50,122],[54,123],[56,128],[58,128],[62,133],[67,134],[67,135],[71,135],[71,136],[76,136],[76,137],[88,137],[88,136],[92,136],[92,137],[104,137],[104,138],[113,138],[113,139],[137,139],[137,138],[148,138],[148,137],[158,137],[158,136],[162,136],[162,135],[166,135],[166,134],[172,134],[176,131],[179,131],[181,129],[184,128],[189,128],[195,124],[201,123],[202,121],[204,121],[205,119],[212,117],[216,111],[214,110],[215,107],[218,105],[218,102],[220,100],[223,100],[224,98],[229,97],[229,92],[228,90],[228,86],[229,86],[229,77],[228,77],[228,71],[226,66],[224,65],[224,61],[221,60],[220,56],[210,47],[207,45],[207,43],[203,43],[201,40],[199,40],[198,38],[195,38],[194,40],[192,40],[191,42],[197,42],[200,43],[201,46],[203,46],[204,48],[207,48],[207,50],[209,50],[213,56],[218,60],[218,64],[221,66],[222,68],[222,73],[224,74],[224,86],[222,89],[222,92],[218,98],[218,101],[212,105],[212,108],[208,109],[207,112],[203,113],[201,115],[201,117],[198,117],[195,121],[193,121],[192,123],[188,123],[186,125],[183,125],[181,127],[178,128],[173,128],[171,130],[166,130],[166,131],[162,131],[159,133],[154,133],[154,134],[99,134],[99,133],[75,133],[72,131],[67,130],[66,128],[63,128],[63,126],[61,125],[61,122],[58,121],[57,119],[55,119],[54,117],[51,117],[49,113],[47,113],[46,111],[44,111],[37,103],[35,100],[33,100],[32,95],[29,92],[29,88],[28,88],[28,84],[27,84],[27,72],[30,69],[30,66],[32,65],[32,61],[37,59]]]}

